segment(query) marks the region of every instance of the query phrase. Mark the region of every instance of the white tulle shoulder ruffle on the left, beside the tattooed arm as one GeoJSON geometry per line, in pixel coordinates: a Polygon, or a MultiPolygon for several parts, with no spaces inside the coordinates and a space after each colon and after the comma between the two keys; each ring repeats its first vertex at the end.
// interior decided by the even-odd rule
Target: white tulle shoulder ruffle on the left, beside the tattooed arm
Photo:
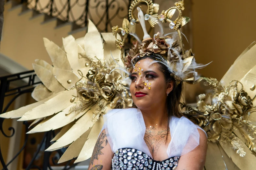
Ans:
{"type": "Polygon", "coordinates": [[[113,152],[120,148],[134,148],[151,156],[144,141],[146,127],[139,109],[113,109],[103,119],[103,129],[113,152]]]}

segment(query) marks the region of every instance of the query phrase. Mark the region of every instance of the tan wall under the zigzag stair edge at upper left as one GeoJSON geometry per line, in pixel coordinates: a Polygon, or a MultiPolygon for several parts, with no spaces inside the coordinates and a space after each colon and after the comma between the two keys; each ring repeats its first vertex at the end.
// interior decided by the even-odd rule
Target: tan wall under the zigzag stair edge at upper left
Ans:
{"type": "MultiPolygon", "coordinates": [[[[0,52],[28,69],[33,69],[32,63],[35,59],[43,59],[51,63],[43,45],[43,37],[61,47],[62,37],[68,36],[71,25],[67,24],[55,29],[56,20],[41,24],[44,19],[43,15],[30,19],[32,11],[19,16],[21,7],[14,8],[11,11],[10,8],[11,3],[7,3],[4,11],[0,52]]],[[[72,35],[79,38],[85,35],[85,31],[72,35]]]]}

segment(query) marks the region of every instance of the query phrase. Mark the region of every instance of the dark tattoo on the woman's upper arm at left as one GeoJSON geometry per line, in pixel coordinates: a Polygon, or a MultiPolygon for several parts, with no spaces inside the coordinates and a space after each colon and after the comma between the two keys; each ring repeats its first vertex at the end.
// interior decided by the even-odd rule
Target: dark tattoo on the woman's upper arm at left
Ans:
{"type": "MultiPolygon", "coordinates": [[[[96,144],[95,144],[95,147],[94,147],[94,150],[93,150],[93,154],[92,154],[92,158],[91,158],[91,161],[90,161],[90,164],[89,164],[89,166],[90,165],[93,165],[93,162],[94,162],[94,160],[98,160],[99,158],[98,158],[98,156],[99,155],[103,155],[103,153],[101,152],[101,150],[104,148],[104,146],[102,146],[102,144],[105,142],[105,137],[106,137],[107,135],[106,135],[106,132],[104,132],[104,133],[102,133],[101,135],[100,135],[100,137],[98,138],[98,140],[96,141],[96,144]]],[[[106,139],[106,145],[107,145],[107,143],[108,143],[108,141],[107,141],[107,139],[106,139]]],[[[105,145],[105,146],[106,146],[105,145]]],[[[103,168],[103,166],[102,165],[95,165],[91,170],[94,170],[94,168],[96,167],[96,166],[101,166],[101,169],[103,168]]],[[[101,170],[101,169],[99,169],[100,167],[97,167],[96,169],[97,170],[101,170]]],[[[95,170],[96,170],[95,169],[95,170]]]]}

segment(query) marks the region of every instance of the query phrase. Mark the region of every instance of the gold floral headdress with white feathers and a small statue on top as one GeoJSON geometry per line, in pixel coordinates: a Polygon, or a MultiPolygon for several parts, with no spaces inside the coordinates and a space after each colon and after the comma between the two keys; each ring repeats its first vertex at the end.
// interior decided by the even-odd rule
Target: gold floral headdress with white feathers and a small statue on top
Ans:
{"type": "Polygon", "coordinates": [[[196,64],[192,50],[184,50],[182,33],[179,29],[189,22],[190,19],[181,15],[182,10],[184,10],[183,0],[175,3],[175,5],[176,7],[171,7],[158,15],[155,13],[158,12],[159,6],[153,4],[152,1],[133,1],[129,10],[129,21],[124,19],[123,27],[113,27],[112,32],[114,35],[117,35],[117,31],[121,30],[122,35],[124,35],[123,41],[116,38],[117,46],[120,50],[124,48],[124,41],[128,33],[137,39],[137,42],[133,42],[132,48],[123,60],[126,68],[131,68],[140,57],[153,55],[158,59],[156,60],[157,62],[164,64],[168,68],[176,81],[186,81],[194,84],[201,80],[195,69],[206,65],[196,64]],[[145,15],[141,8],[138,7],[143,3],[147,6],[145,15]],[[134,15],[135,7],[138,10],[138,17],[134,15]],[[179,16],[175,21],[172,21],[171,19],[177,11],[179,16]],[[151,27],[155,27],[156,24],[160,26],[160,31],[152,38],[147,33],[145,21],[148,21],[151,27]],[[169,23],[170,29],[174,29],[177,32],[164,34],[162,22],[169,23]],[[135,33],[135,27],[139,23],[144,32],[143,40],[140,40],[135,33]]]}

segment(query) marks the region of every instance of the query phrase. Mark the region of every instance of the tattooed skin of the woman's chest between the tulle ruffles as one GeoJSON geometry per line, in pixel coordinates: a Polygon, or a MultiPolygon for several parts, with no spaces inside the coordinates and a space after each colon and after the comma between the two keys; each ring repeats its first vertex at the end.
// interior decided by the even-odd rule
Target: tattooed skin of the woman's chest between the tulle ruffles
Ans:
{"type": "Polygon", "coordinates": [[[160,146],[165,143],[167,132],[167,128],[160,130],[154,126],[146,128],[144,140],[153,157],[157,155],[160,146]]]}

